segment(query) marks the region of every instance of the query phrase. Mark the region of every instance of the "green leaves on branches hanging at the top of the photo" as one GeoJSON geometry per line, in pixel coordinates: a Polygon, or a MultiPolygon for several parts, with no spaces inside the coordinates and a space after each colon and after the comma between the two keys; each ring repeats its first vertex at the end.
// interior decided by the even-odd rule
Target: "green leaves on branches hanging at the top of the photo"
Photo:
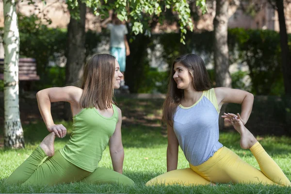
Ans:
{"type": "MultiPolygon", "coordinates": [[[[162,10],[172,8],[174,14],[178,17],[178,23],[181,30],[180,42],[185,44],[186,29],[193,31],[193,22],[191,18],[191,10],[187,0],[81,0],[86,3],[87,7],[92,8],[94,13],[98,16],[107,16],[108,11],[113,9],[117,14],[119,20],[133,23],[132,31],[134,34],[144,32],[144,27],[148,28],[147,22],[153,16],[160,16],[162,10]],[[147,18],[146,18],[147,17],[147,18]]],[[[78,18],[78,14],[74,14],[75,9],[79,4],[78,0],[66,0],[69,9],[73,16],[78,18]]],[[[196,6],[199,6],[202,13],[207,12],[206,0],[197,0],[196,6]]]]}

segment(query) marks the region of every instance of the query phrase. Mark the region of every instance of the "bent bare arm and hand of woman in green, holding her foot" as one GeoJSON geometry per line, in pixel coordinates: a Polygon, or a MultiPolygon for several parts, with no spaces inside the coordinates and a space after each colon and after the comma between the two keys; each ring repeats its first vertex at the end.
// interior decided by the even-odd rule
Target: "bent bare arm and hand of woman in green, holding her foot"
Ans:
{"type": "Polygon", "coordinates": [[[71,104],[73,111],[80,110],[79,100],[82,89],[74,86],[54,87],[41,90],[36,93],[38,109],[49,132],[54,131],[58,137],[64,137],[66,129],[63,125],[55,125],[50,113],[50,103],[65,101],[71,104]]]}

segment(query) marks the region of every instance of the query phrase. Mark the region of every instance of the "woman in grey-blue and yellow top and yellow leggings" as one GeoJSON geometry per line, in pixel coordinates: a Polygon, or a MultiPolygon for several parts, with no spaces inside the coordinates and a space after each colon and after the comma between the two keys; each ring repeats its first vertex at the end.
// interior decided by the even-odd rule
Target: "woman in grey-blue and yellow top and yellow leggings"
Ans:
{"type": "Polygon", "coordinates": [[[291,186],[290,180],[244,127],[252,111],[254,96],[226,87],[211,88],[203,60],[195,54],[177,58],[171,69],[162,120],[167,123],[167,173],[146,185],[215,183],[262,183],[291,186]],[[250,149],[260,170],[242,161],[219,140],[219,113],[224,103],[242,104],[241,114],[224,113],[241,135],[241,147],[250,149]],[[178,146],[190,168],[178,169],[178,146]]]}

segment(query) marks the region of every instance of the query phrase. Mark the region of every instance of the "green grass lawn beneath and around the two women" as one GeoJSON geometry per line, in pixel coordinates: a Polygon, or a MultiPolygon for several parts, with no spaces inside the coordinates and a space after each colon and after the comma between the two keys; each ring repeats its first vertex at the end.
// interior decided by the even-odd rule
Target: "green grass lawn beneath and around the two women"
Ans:
{"type": "MultiPolygon", "coordinates": [[[[161,101],[158,101],[158,104],[161,101]]],[[[69,183],[56,186],[23,186],[6,185],[3,183],[25,159],[33,149],[40,144],[48,134],[45,125],[38,121],[34,124],[23,125],[26,148],[20,150],[0,149],[0,193],[185,193],[185,194],[290,194],[291,187],[243,185],[243,184],[218,184],[217,186],[153,186],[146,187],[145,183],[166,172],[166,147],[167,138],[165,128],[160,125],[160,120],[154,118],[161,114],[159,108],[147,100],[140,104],[123,100],[119,104],[125,118],[122,127],[123,146],[125,150],[124,175],[135,181],[135,186],[69,183]],[[130,104],[134,104],[130,106],[130,104]],[[142,111],[141,111],[142,110],[142,111]],[[138,114],[139,113],[139,114],[138,114]],[[138,115],[130,119],[130,114],[138,115]],[[144,115],[144,116],[142,116],[144,115]],[[143,122],[146,121],[146,122],[143,122]],[[150,124],[150,126],[148,125],[150,124]]],[[[160,106],[158,106],[160,107],[160,106]]],[[[61,122],[71,132],[70,122],[61,122]]],[[[283,169],[286,176],[291,179],[291,138],[290,137],[258,137],[262,146],[270,156],[283,169]]],[[[62,148],[68,141],[69,135],[64,139],[56,139],[56,149],[62,148]]],[[[223,132],[220,142],[237,153],[244,161],[259,168],[258,163],[249,150],[243,150],[239,145],[240,136],[236,132],[223,132]]],[[[104,151],[99,166],[112,169],[109,149],[104,151]]],[[[183,153],[179,150],[178,168],[188,168],[183,153]]]]}

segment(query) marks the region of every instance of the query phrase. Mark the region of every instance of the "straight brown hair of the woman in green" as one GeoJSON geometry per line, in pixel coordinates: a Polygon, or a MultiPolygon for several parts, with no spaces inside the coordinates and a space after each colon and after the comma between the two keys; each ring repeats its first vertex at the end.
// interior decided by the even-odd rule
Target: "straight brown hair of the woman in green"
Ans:
{"type": "Polygon", "coordinates": [[[81,108],[96,107],[100,110],[112,107],[115,57],[95,54],[84,66],[80,99],[81,108]]]}

